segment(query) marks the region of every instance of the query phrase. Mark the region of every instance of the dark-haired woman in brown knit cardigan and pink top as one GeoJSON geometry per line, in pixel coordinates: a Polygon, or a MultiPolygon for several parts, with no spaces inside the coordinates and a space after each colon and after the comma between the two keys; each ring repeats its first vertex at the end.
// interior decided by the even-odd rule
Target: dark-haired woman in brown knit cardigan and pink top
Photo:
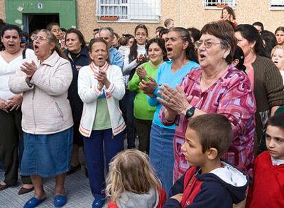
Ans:
{"type": "Polygon", "coordinates": [[[255,94],[257,112],[257,144],[261,139],[268,118],[284,104],[283,81],[278,68],[263,53],[263,41],[259,31],[252,25],[238,25],[235,28],[237,45],[244,51],[244,65],[255,94]]]}

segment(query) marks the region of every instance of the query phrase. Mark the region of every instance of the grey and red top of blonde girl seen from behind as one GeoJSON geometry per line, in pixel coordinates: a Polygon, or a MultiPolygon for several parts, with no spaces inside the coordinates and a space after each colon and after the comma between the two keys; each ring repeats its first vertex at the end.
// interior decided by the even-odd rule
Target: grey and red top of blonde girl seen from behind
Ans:
{"type": "Polygon", "coordinates": [[[146,194],[135,194],[132,192],[123,192],[117,203],[112,200],[108,203],[108,208],[133,208],[133,207],[149,207],[162,208],[167,199],[164,189],[160,191],[151,188],[146,194]]]}

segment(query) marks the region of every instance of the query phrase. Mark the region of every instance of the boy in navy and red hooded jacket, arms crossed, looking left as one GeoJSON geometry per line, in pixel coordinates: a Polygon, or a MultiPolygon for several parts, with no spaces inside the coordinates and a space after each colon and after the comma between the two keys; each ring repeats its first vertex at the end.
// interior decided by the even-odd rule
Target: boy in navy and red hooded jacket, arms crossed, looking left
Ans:
{"type": "Polygon", "coordinates": [[[230,121],[220,114],[189,120],[181,148],[191,168],[171,187],[164,208],[228,208],[246,198],[248,177],[220,159],[232,136],[230,121]]]}

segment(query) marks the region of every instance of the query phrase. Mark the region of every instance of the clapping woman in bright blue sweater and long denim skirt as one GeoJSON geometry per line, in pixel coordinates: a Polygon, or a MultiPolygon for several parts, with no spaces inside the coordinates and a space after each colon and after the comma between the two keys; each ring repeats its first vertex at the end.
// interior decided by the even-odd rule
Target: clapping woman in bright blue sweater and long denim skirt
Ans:
{"type": "Polygon", "coordinates": [[[174,152],[173,139],[176,126],[163,125],[158,116],[162,107],[158,101],[158,90],[163,84],[176,88],[176,84],[193,68],[198,68],[194,46],[191,43],[189,32],[183,27],[172,27],[167,33],[165,47],[167,57],[171,59],[159,66],[156,79],[148,77],[142,80],[139,88],[148,95],[151,106],[156,107],[150,133],[150,162],[163,187],[168,193],[173,185],[174,152]]]}

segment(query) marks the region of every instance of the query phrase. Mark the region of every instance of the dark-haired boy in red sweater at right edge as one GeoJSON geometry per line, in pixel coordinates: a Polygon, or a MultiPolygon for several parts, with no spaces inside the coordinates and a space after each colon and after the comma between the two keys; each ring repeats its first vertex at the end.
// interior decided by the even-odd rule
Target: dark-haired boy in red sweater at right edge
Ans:
{"type": "Polygon", "coordinates": [[[268,151],[255,159],[255,177],[246,207],[284,207],[284,113],[268,120],[265,134],[268,151]]]}

